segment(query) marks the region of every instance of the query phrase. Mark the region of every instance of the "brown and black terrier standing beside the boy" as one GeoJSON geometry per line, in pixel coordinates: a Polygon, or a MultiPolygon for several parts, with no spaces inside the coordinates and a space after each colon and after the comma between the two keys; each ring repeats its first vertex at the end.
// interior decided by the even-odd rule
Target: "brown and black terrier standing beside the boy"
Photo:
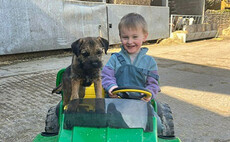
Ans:
{"type": "Polygon", "coordinates": [[[52,93],[63,91],[63,105],[84,98],[85,87],[94,83],[96,98],[102,98],[101,68],[103,50],[107,54],[109,42],[101,37],[80,38],[71,45],[72,64],[66,68],[60,85],[52,93]]]}

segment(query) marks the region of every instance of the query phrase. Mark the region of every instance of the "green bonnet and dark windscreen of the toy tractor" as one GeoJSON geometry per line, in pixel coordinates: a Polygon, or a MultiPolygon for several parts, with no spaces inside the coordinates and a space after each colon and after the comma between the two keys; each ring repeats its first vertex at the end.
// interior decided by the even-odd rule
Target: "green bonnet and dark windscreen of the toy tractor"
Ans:
{"type": "Polygon", "coordinates": [[[73,100],[63,119],[61,142],[141,142],[144,132],[153,133],[152,108],[140,100],[73,100]]]}

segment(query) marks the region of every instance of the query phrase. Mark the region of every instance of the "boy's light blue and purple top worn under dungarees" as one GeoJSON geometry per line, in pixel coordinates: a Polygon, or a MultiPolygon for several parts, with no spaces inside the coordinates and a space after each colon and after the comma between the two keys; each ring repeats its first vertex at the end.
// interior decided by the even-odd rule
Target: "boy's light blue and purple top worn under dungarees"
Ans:
{"type": "MultiPolygon", "coordinates": [[[[147,51],[148,48],[141,48],[133,63],[131,63],[128,52],[122,46],[119,54],[124,57],[126,64],[132,64],[137,68],[146,69],[158,75],[157,63],[153,57],[146,55],[147,51]]],[[[120,61],[117,59],[117,56],[113,54],[102,70],[102,86],[106,91],[113,86],[118,86],[115,74],[120,67],[120,61]]],[[[152,98],[155,98],[156,94],[160,91],[158,81],[153,77],[146,76],[144,82],[145,84],[143,86],[150,90],[153,95],[152,98]]]]}

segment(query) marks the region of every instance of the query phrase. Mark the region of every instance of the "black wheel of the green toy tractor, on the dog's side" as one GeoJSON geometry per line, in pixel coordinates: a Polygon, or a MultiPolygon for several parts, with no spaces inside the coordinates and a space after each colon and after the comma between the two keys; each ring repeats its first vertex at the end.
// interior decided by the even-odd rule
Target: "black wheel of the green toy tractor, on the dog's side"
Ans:
{"type": "Polygon", "coordinates": [[[46,125],[45,125],[45,132],[46,133],[52,133],[52,134],[58,134],[59,131],[59,125],[58,125],[58,116],[56,112],[57,106],[52,106],[47,113],[46,116],[46,125]]]}

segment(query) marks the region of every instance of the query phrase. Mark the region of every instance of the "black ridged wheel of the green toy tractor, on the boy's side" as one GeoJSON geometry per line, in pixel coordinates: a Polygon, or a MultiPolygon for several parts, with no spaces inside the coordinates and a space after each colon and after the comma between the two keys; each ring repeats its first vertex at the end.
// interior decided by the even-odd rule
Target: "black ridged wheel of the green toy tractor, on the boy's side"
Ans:
{"type": "Polygon", "coordinates": [[[164,126],[163,132],[158,135],[163,137],[174,137],[173,117],[169,105],[157,102],[157,114],[164,126]]]}

